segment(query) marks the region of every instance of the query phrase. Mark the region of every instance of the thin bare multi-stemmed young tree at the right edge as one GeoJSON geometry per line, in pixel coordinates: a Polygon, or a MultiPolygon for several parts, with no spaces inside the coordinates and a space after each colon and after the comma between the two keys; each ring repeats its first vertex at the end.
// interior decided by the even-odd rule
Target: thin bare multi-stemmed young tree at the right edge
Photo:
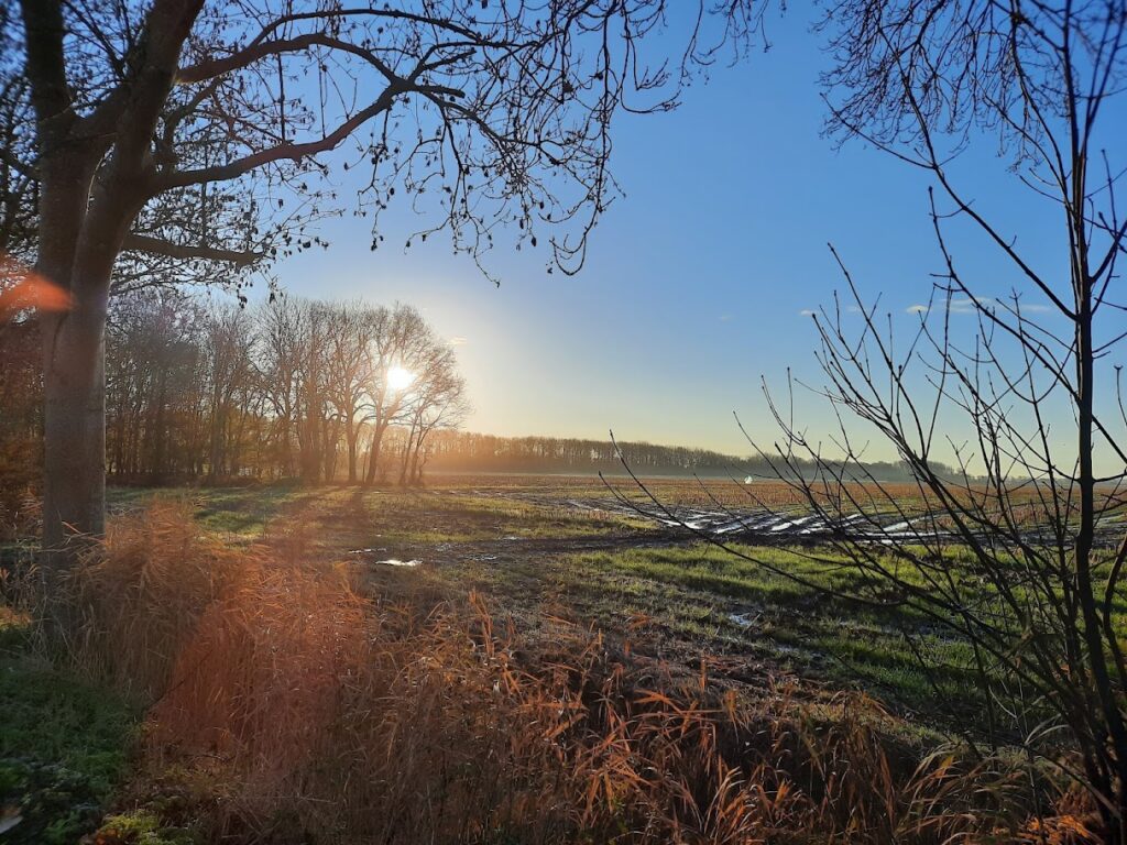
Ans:
{"type": "Polygon", "coordinates": [[[1082,783],[1106,840],[1127,842],[1127,415],[1113,357],[1127,338],[1127,220],[1125,162],[1100,146],[1121,148],[1109,118],[1122,115],[1127,7],[842,0],[824,32],[832,127],[931,175],[942,265],[905,338],[833,251],[850,295],[815,318],[825,381],[813,389],[837,425],[811,430],[764,386],[782,436],[753,445],[804,502],[804,534],[823,541],[801,553],[860,572],[852,598],[909,608],[965,643],[959,668],[984,690],[990,740],[1082,783]],[[1048,267],[959,185],[959,152],[992,136],[1031,202],[1059,214],[1048,267]],[[1010,295],[985,295],[957,261],[949,230],[962,223],[1011,266],[1010,295]],[[913,495],[869,470],[871,433],[909,468],[913,495]]]}

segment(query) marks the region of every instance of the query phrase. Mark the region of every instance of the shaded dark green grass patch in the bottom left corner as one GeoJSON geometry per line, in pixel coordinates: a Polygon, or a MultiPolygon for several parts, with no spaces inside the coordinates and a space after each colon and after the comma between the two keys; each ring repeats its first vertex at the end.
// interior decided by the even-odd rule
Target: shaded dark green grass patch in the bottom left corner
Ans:
{"type": "Polygon", "coordinates": [[[0,607],[0,818],[6,843],[73,843],[128,773],[139,713],[33,652],[0,607]],[[16,818],[18,824],[12,824],[16,818]]]}

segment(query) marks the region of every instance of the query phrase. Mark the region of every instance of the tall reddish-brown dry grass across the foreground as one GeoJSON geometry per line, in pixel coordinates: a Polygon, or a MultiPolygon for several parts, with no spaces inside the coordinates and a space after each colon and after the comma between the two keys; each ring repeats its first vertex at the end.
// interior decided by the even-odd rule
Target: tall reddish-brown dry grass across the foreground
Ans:
{"type": "Polygon", "coordinates": [[[743,697],[564,621],[545,651],[476,596],[362,599],[307,541],[158,504],[74,579],[76,659],[154,702],[139,782],[206,784],[210,840],[1084,840],[1083,802],[1031,819],[1028,772],[921,760],[862,696],[743,697]]]}

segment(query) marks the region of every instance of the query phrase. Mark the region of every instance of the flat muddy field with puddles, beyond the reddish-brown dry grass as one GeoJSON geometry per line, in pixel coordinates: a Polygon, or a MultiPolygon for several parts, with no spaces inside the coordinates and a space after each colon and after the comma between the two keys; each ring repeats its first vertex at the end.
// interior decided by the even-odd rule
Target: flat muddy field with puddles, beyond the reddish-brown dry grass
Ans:
{"type": "MultiPolygon", "coordinates": [[[[810,690],[863,690],[922,726],[949,717],[952,701],[964,703],[971,721],[980,715],[978,690],[960,668],[969,660],[961,642],[930,631],[911,613],[876,612],[820,594],[635,513],[623,498],[647,513],[654,502],[629,480],[611,484],[597,478],[446,477],[424,490],[117,489],[112,500],[118,513],[154,498],[186,501],[202,525],[237,543],[301,523],[316,555],[346,562],[371,595],[476,590],[496,599],[524,631],[538,630],[545,617],[566,617],[687,673],[704,658],[715,677],[735,685],[782,676],[810,690]],[[947,668],[921,674],[905,633],[947,668]],[[939,694],[943,708],[937,706],[939,694]]],[[[646,484],[674,509],[749,504],[748,491],[730,481],[646,484]]],[[[893,489],[904,499],[914,492],[893,489]]],[[[801,510],[782,484],[758,484],[753,496],[756,504],[801,510]]],[[[842,592],[858,578],[845,567],[811,562],[787,539],[773,534],[770,548],[735,548],[842,592]]]]}

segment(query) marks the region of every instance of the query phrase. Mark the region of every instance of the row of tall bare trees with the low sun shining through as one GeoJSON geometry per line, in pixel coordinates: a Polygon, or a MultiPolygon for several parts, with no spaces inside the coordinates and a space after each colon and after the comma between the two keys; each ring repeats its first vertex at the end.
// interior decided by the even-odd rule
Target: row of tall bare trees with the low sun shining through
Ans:
{"type": "MultiPolygon", "coordinates": [[[[34,319],[0,329],[0,474],[42,465],[34,319]]],[[[468,412],[454,350],[417,310],[274,297],[121,296],[106,341],[106,472],[128,483],[300,478],[415,483],[468,412]]]]}

